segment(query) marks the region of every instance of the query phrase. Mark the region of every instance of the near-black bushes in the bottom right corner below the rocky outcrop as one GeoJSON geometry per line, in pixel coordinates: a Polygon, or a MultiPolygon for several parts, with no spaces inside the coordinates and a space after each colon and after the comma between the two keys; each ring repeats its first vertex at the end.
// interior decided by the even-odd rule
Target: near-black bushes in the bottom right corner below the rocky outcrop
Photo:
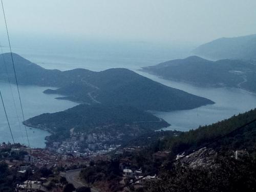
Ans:
{"type": "Polygon", "coordinates": [[[163,170],[161,180],[147,182],[140,191],[252,192],[256,189],[255,165],[253,159],[236,160],[228,155],[218,155],[212,167],[193,168],[183,164],[163,170]]]}

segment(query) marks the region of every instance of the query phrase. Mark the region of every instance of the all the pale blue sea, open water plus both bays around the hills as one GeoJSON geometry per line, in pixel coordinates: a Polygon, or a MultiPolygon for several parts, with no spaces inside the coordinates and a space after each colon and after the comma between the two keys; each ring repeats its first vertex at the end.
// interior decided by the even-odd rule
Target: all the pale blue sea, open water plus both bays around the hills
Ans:
{"type": "MultiPolygon", "coordinates": [[[[142,42],[139,43],[139,45],[138,47],[138,43],[97,43],[93,45],[87,44],[83,49],[66,47],[61,50],[56,48],[54,51],[49,51],[47,48],[22,49],[19,47],[14,48],[13,52],[47,69],[71,70],[84,68],[92,71],[101,71],[109,68],[127,68],[163,83],[166,86],[206,97],[216,102],[214,105],[201,106],[194,110],[154,112],[155,115],[172,124],[167,130],[188,131],[190,129],[196,129],[199,125],[211,124],[256,107],[256,95],[243,90],[230,88],[199,88],[186,83],[164,80],[154,75],[137,71],[143,66],[152,66],[162,61],[184,58],[190,55],[189,50],[191,50],[191,47],[164,47],[142,42]]],[[[6,107],[10,116],[14,136],[17,141],[27,144],[24,126],[22,126],[22,132],[20,132],[16,120],[8,83],[0,83],[0,88],[6,100],[6,107]]],[[[46,89],[47,88],[36,86],[20,86],[26,119],[42,113],[63,111],[77,104],[66,100],[56,100],[54,99],[57,97],[56,95],[42,93],[46,89]]],[[[13,86],[12,90],[16,94],[15,86],[13,86]]],[[[17,95],[15,95],[15,98],[16,106],[19,109],[17,95]]],[[[20,122],[22,122],[20,111],[18,111],[18,114],[20,122]]],[[[0,135],[0,142],[11,141],[3,110],[0,111],[0,115],[0,131],[3,133],[0,135]]],[[[28,129],[28,132],[32,147],[45,146],[45,137],[49,135],[47,131],[28,129]]]]}

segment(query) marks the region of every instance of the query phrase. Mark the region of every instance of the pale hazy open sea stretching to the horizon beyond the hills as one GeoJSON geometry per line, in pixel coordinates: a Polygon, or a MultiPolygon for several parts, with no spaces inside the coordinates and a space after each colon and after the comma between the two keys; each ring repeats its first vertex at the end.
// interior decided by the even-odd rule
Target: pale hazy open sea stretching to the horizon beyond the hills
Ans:
{"type": "MultiPolygon", "coordinates": [[[[256,34],[251,34],[256,35],[256,34]]],[[[250,36],[250,35],[245,35],[250,36]]],[[[24,36],[23,36],[24,37],[24,36]]],[[[240,37],[240,36],[236,36],[240,37]]],[[[236,37],[220,37],[221,38],[236,38],[236,37]]],[[[100,41],[97,39],[94,41],[93,39],[84,40],[84,41],[72,41],[72,39],[62,39],[60,37],[54,39],[53,37],[48,37],[47,40],[44,37],[36,38],[32,37],[29,46],[26,45],[27,39],[11,39],[12,51],[25,59],[30,60],[31,62],[36,63],[37,65],[44,67],[46,69],[55,69],[49,67],[47,63],[59,63],[58,70],[71,70],[75,68],[84,68],[92,71],[99,71],[99,69],[92,69],[90,67],[86,67],[86,64],[90,63],[89,66],[93,66],[97,57],[100,57],[100,61],[103,65],[108,65],[110,62],[109,59],[116,62],[128,63],[130,58],[130,62],[133,63],[134,59],[138,65],[138,69],[140,67],[157,65],[158,63],[165,62],[168,60],[174,59],[185,59],[189,56],[199,56],[201,58],[216,61],[219,59],[212,59],[202,55],[197,55],[193,53],[195,48],[198,48],[204,44],[186,44],[180,43],[178,44],[165,44],[157,43],[157,42],[147,42],[147,41],[110,41],[104,40],[100,41]],[[35,41],[33,41],[33,39],[35,41]],[[38,42],[40,43],[38,45],[38,42]],[[148,56],[150,55],[150,56],[148,56]],[[52,58],[54,56],[54,58],[52,58]],[[65,56],[65,57],[63,57],[65,56]],[[153,57],[152,57],[153,56],[153,57]],[[62,58],[61,58],[62,57],[62,58]],[[74,58],[76,58],[74,60],[74,58]],[[88,60],[89,58],[89,60],[88,60]],[[115,59],[114,59],[115,58],[115,59]],[[153,59],[154,58],[154,59],[153,59]],[[93,60],[91,60],[93,59],[93,60]],[[105,59],[105,60],[104,60],[105,59]],[[139,63],[144,59],[144,64],[140,65],[139,63]],[[71,62],[72,60],[72,62],[71,62]],[[141,60],[141,61],[139,61],[141,60]],[[148,62],[151,60],[150,62],[148,62]],[[153,60],[156,60],[155,62],[153,60]],[[61,66],[61,63],[64,67],[61,66]],[[69,67],[67,68],[67,63],[69,63],[69,67]],[[84,67],[82,67],[84,65],[84,67]]],[[[214,39],[217,40],[217,39],[214,39]]],[[[213,40],[213,41],[214,41],[213,40]]],[[[210,41],[211,42],[211,41],[210,41]]],[[[7,43],[7,42],[6,42],[7,43]]],[[[207,44],[208,42],[205,42],[207,44]]],[[[3,53],[10,52],[9,46],[3,45],[1,42],[1,46],[3,49],[3,53]]],[[[0,53],[1,54],[1,53],[0,53]]],[[[143,62],[141,62],[143,63],[143,62]]],[[[133,65],[134,66],[134,63],[133,65]]],[[[111,68],[111,67],[109,67],[111,68]]],[[[109,69],[108,67],[104,67],[102,70],[109,69]]],[[[126,68],[124,66],[124,68],[126,68]]],[[[129,68],[129,67],[127,67],[129,68]]],[[[135,69],[135,67],[133,67],[135,69]]]]}

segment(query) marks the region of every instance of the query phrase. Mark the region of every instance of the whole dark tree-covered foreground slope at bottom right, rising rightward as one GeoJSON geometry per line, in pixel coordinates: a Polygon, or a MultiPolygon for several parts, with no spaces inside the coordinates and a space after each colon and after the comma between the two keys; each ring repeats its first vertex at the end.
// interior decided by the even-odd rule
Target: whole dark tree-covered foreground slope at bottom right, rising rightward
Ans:
{"type": "Polygon", "coordinates": [[[126,158],[129,157],[132,161],[138,159],[142,166],[151,165],[145,172],[148,175],[158,175],[158,179],[142,181],[143,185],[130,185],[130,190],[254,191],[256,122],[238,131],[234,130],[255,118],[256,109],[178,136],[165,136],[136,156],[127,156],[126,158]],[[200,155],[194,151],[228,133],[232,134],[208,145],[208,149],[205,152],[200,151],[200,155]],[[167,159],[154,158],[159,150],[170,152],[167,159]],[[236,157],[237,150],[241,150],[243,155],[236,157]],[[174,163],[176,155],[183,152],[184,159],[174,163]],[[188,153],[192,153],[189,155],[190,159],[186,157],[188,153]]]}

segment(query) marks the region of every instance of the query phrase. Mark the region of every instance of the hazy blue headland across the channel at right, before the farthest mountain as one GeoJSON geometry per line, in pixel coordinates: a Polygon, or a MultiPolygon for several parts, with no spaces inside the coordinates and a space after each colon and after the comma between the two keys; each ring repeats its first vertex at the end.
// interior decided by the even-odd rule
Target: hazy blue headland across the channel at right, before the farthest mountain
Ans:
{"type": "Polygon", "coordinates": [[[249,61],[231,59],[210,61],[198,56],[190,56],[144,67],[142,71],[199,86],[233,87],[256,92],[256,65],[249,61]]]}

